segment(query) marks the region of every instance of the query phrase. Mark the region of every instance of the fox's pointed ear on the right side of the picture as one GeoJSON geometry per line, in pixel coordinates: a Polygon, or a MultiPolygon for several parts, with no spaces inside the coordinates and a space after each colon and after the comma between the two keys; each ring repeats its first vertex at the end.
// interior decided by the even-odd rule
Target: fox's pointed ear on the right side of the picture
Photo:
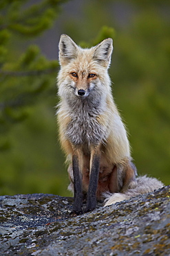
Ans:
{"type": "Polygon", "coordinates": [[[109,67],[111,53],[113,51],[113,39],[107,38],[94,47],[94,60],[105,67],[109,67]]]}

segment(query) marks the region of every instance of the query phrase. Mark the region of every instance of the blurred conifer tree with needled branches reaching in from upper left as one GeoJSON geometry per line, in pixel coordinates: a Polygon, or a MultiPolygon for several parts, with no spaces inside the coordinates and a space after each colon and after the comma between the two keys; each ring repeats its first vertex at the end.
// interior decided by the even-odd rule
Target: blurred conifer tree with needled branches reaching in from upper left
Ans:
{"type": "Polygon", "coordinates": [[[52,89],[50,80],[56,76],[58,66],[57,61],[47,60],[38,46],[30,45],[21,54],[16,45],[50,28],[63,2],[0,2],[0,150],[8,147],[6,134],[14,123],[26,118],[27,107],[52,89]]]}

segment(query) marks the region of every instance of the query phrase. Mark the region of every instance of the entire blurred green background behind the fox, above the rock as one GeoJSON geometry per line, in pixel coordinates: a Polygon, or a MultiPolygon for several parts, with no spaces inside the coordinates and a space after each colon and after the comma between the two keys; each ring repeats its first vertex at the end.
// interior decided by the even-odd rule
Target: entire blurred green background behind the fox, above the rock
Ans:
{"type": "Polygon", "coordinates": [[[58,43],[114,39],[109,74],[138,174],[170,183],[170,1],[0,1],[0,194],[69,184],[56,125],[58,43]]]}

